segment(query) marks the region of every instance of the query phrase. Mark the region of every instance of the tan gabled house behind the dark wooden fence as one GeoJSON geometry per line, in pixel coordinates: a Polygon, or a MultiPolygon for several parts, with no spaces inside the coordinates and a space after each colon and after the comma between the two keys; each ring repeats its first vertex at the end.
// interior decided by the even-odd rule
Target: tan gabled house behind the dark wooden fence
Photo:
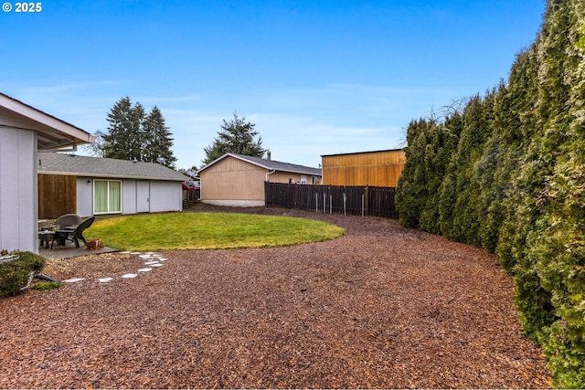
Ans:
{"type": "Polygon", "coordinates": [[[226,153],[197,171],[201,201],[217,206],[264,206],[264,182],[319,184],[321,169],[226,153]]]}

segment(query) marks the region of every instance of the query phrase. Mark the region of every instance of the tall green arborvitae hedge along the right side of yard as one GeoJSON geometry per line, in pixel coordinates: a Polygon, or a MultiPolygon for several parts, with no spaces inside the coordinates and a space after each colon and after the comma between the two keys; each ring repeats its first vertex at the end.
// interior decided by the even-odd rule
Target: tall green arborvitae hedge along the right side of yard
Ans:
{"type": "Polygon", "coordinates": [[[585,387],[585,2],[549,0],[506,82],[407,141],[400,223],[495,252],[554,384],[585,387]]]}

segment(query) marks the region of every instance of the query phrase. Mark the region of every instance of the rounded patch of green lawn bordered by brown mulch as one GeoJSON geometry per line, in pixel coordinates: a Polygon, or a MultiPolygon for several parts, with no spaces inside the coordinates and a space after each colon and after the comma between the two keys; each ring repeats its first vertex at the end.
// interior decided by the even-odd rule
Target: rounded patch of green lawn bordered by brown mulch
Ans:
{"type": "Polygon", "coordinates": [[[282,247],[343,236],[322,221],[232,213],[117,216],[96,221],[83,236],[119,250],[282,247]]]}

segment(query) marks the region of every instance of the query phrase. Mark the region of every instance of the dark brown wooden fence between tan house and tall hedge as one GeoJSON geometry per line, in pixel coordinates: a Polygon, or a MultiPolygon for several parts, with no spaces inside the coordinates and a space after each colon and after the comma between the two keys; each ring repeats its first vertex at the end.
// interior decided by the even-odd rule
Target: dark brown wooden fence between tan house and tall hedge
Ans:
{"type": "Polygon", "coordinates": [[[264,184],[266,206],[318,213],[398,218],[394,187],[264,184]]]}

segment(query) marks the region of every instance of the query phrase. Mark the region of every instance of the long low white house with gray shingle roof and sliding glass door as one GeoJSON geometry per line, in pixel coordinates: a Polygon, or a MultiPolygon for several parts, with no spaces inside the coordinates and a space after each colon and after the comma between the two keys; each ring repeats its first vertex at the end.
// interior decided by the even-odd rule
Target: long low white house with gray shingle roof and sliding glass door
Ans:
{"type": "Polygon", "coordinates": [[[38,153],[39,217],[180,211],[186,180],[159,163],[38,153]]]}

